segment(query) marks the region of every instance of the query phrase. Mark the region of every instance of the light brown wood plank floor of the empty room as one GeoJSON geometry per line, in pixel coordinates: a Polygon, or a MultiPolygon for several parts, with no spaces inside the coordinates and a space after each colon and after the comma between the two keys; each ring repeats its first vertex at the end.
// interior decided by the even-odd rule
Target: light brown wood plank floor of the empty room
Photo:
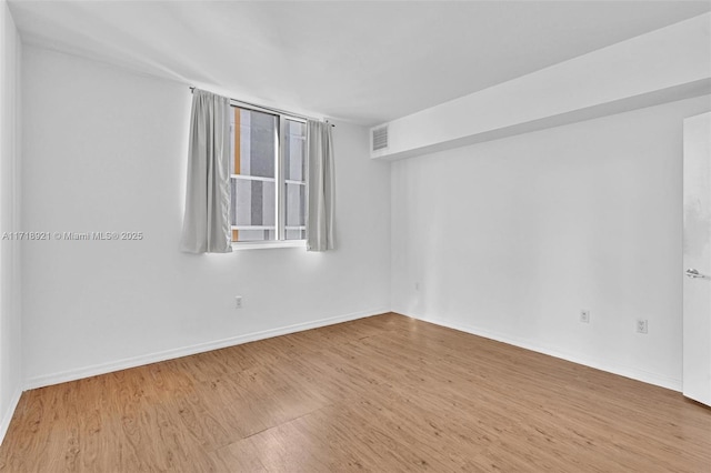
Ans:
{"type": "Polygon", "coordinates": [[[384,314],[26,392],[2,472],[710,472],[681,394],[384,314]]]}

